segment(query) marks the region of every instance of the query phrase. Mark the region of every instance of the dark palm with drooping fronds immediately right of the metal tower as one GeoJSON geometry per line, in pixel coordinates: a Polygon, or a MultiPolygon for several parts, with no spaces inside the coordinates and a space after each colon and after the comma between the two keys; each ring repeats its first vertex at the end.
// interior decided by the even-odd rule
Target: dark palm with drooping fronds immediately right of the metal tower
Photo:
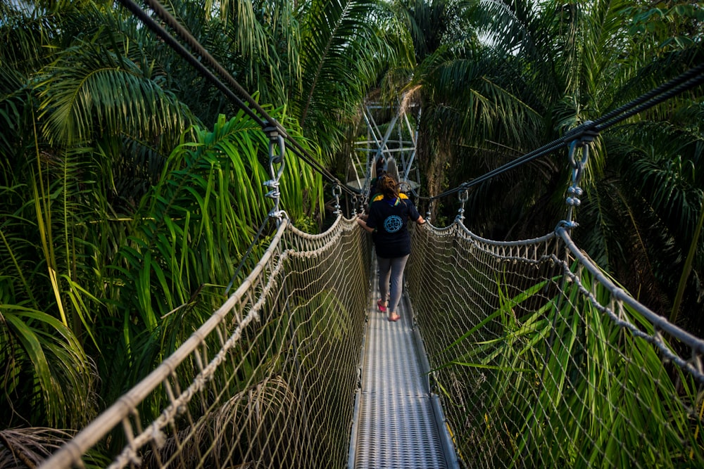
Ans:
{"type": "MultiPolygon", "coordinates": [[[[535,99],[520,96],[527,85],[517,64],[481,39],[477,2],[398,0],[394,11],[413,39],[416,64],[406,90],[422,105],[418,153],[431,195],[539,142],[535,99]]],[[[451,202],[445,215],[455,207],[451,202]]]]}

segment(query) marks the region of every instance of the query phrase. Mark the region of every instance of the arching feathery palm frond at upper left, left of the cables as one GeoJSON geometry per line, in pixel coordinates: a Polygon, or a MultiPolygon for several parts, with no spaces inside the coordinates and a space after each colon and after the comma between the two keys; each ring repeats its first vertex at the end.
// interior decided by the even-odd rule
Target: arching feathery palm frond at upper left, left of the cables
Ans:
{"type": "Polygon", "coordinates": [[[47,141],[72,145],[108,131],[141,139],[186,127],[180,102],[124,57],[94,44],[65,51],[37,83],[47,141]]]}

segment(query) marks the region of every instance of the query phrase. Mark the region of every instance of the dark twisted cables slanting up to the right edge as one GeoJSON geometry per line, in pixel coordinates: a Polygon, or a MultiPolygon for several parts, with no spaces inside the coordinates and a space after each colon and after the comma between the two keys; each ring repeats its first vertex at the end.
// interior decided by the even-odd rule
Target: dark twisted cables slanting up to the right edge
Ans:
{"type": "Polygon", "coordinates": [[[413,195],[419,200],[432,201],[466,190],[467,188],[481,184],[494,176],[498,176],[498,174],[506,172],[509,169],[513,169],[517,166],[523,165],[524,163],[551,153],[554,150],[558,150],[562,146],[570,143],[570,141],[579,139],[583,134],[593,134],[594,132],[598,133],[608,129],[609,127],[612,127],[612,125],[617,124],[617,122],[621,122],[622,120],[636,115],[643,110],[652,108],[654,105],[662,103],[662,101],[677,96],[687,89],[691,89],[702,83],[704,83],[704,65],[698,65],[690,70],[687,70],[678,77],[671,79],[669,82],[661,84],[657,88],[652,89],[629,103],[622,105],[620,108],[612,110],[596,120],[584,122],[584,124],[579,125],[579,127],[575,127],[574,129],[568,131],[562,139],[555,139],[530,153],[526,153],[525,155],[522,155],[519,158],[506,163],[505,165],[492,169],[476,179],[472,179],[472,181],[463,182],[455,188],[448,189],[448,191],[444,191],[443,193],[432,197],[421,196],[417,194],[413,188],[411,188],[411,193],[413,193],[413,195]]]}

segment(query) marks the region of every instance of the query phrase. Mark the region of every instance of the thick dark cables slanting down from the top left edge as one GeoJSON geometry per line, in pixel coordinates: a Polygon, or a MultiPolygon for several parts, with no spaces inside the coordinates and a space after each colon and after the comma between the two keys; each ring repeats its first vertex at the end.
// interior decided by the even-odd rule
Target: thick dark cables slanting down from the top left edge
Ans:
{"type": "MultiPolygon", "coordinates": [[[[261,128],[263,131],[267,131],[268,128],[273,129],[279,134],[282,134],[284,136],[284,139],[289,141],[292,144],[292,147],[289,147],[292,153],[294,155],[298,156],[301,160],[306,162],[310,167],[315,169],[316,172],[320,173],[322,176],[324,176],[329,182],[332,182],[334,184],[340,184],[339,179],[335,177],[331,172],[329,172],[325,167],[320,165],[315,158],[312,158],[310,155],[308,155],[308,152],[306,151],[303,146],[301,146],[298,141],[293,139],[289,134],[287,133],[286,129],[280,124],[277,120],[275,120],[274,117],[270,116],[262,107],[257,103],[252,96],[247,93],[247,91],[237,82],[237,80],[230,75],[225,68],[218,63],[213,56],[208,53],[208,51],[201,46],[201,44],[193,37],[193,35],[185,28],[183,27],[177,20],[174,18],[158,1],[156,0],[144,0],[144,2],[149,5],[153,11],[163,20],[166,24],[168,24],[170,27],[172,27],[173,30],[175,30],[176,34],[189,46],[191,46],[191,49],[196,51],[198,53],[202,60],[197,59],[196,57],[193,56],[191,52],[189,52],[182,44],[180,44],[175,37],[173,37],[168,31],[166,31],[161,25],[156,23],[153,18],[149,14],[147,14],[144,10],[142,10],[139,5],[134,3],[133,0],[118,0],[120,3],[127,8],[134,16],[139,18],[139,20],[144,23],[149,29],[151,29],[153,32],[155,32],[161,39],[165,41],[168,46],[170,46],[174,51],[176,51],[182,58],[184,58],[188,63],[194,66],[196,70],[198,70],[203,77],[208,79],[211,83],[215,85],[216,88],[218,88],[220,91],[222,91],[227,98],[230,98],[230,100],[237,105],[238,108],[244,111],[246,115],[249,115],[261,128]],[[234,89],[237,90],[237,92],[244,97],[244,101],[242,101],[239,96],[234,94],[230,88],[228,88],[225,83],[223,83],[218,77],[216,77],[213,72],[208,70],[208,68],[203,65],[203,63],[207,63],[215,69],[216,72],[218,72],[218,75],[222,77],[222,79],[225,79],[227,84],[230,84],[230,86],[233,86],[234,89]],[[252,110],[256,110],[256,113],[252,110]],[[258,114],[257,114],[258,113],[258,114]]],[[[359,193],[355,188],[352,188],[350,186],[347,186],[346,184],[341,184],[342,188],[348,193],[348,194],[355,194],[359,193]]]]}

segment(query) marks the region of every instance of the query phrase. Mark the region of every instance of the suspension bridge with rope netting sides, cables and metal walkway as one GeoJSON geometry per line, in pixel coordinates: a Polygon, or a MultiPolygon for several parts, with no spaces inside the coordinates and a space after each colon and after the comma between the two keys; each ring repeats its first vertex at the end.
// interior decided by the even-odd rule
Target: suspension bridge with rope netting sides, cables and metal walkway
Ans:
{"type": "MultiPolygon", "coordinates": [[[[202,60],[121,3],[233,98],[239,85],[158,2],[147,1],[202,60]]],[[[270,136],[275,236],[201,328],[40,468],[704,467],[704,341],[634,300],[570,236],[593,138],[703,73],[439,195],[459,195],[458,215],[412,229],[398,323],[376,309],[372,243],[355,222],[368,176],[358,191],[336,186],[325,233],[296,229],[278,205],[284,151],[330,175],[233,98],[270,136]],[[553,232],[497,242],[467,229],[467,188],[563,147],[573,175],[553,232]]]]}

